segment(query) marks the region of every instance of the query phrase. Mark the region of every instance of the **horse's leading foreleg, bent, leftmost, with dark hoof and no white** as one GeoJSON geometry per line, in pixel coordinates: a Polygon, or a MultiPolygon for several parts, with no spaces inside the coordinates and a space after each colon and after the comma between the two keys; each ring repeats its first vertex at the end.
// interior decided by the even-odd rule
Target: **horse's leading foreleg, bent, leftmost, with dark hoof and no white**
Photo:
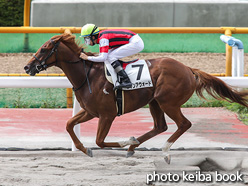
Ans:
{"type": "Polygon", "coordinates": [[[94,117],[90,115],[88,112],[86,112],[84,109],[82,109],[75,116],[69,119],[66,125],[66,130],[70,134],[71,139],[73,143],[75,144],[75,147],[90,157],[93,156],[91,149],[87,149],[83,146],[83,144],[77,138],[73,128],[75,125],[91,120],[92,118],[94,117]]]}

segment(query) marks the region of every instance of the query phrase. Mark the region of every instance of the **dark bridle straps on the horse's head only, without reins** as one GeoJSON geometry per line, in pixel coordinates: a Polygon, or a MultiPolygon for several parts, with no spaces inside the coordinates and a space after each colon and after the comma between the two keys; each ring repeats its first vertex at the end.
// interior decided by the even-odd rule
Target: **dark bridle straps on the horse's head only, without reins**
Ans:
{"type": "Polygon", "coordinates": [[[51,52],[47,55],[47,57],[45,59],[43,59],[42,61],[39,60],[38,57],[36,57],[35,55],[33,55],[33,57],[40,63],[39,65],[36,65],[36,70],[38,72],[41,72],[43,70],[46,70],[49,66],[52,66],[53,64],[55,64],[57,66],[57,58],[58,58],[58,54],[57,54],[57,48],[60,44],[60,41],[58,41],[57,43],[55,43],[54,40],[50,39],[50,42],[54,45],[54,47],[52,48],[51,52]],[[48,65],[46,64],[46,61],[53,55],[53,53],[55,52],[55,61],[52,63],[49,63],[48,65]]]}

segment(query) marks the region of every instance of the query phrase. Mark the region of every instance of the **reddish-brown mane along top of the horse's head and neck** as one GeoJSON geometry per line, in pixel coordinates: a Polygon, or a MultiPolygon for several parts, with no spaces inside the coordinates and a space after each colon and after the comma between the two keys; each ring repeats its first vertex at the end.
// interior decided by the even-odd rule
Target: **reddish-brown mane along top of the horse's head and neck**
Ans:
{"type": "MultiPolygon", "coordinates": [[[[80,41],[76,41],[76,36],[72,35],[70,32],[64,32],[61,35],[56,35],[53,36],[52,39],[55,41],[60,40],[61,42],[63,42],[68,48],[70,48],[75,54],[77,54],[78,56],[80,55],[83,45],[80,44],[80,41]]],[[[92,53],[86,53],[88,56],[92,56],[94,54],[92,53]]]]}

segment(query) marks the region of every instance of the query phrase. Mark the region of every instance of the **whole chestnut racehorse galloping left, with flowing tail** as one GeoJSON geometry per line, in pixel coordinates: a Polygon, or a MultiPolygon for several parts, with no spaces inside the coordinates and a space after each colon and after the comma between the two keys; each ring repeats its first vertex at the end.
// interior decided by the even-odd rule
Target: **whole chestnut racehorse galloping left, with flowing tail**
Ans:
{"type": "MultiPolygon", "coordinates": [[[[84,147],[73,131],[73,127],[92,118],[99,118],[96,144],[101,147],[124,147],[130,145],[127,157],[146,140],[167,130],[164,113],[175,121],[178,129],[162,147],[164,158],[170,162],[171,145],[191,127],[191,122],[181,112],[183,105],[196,91],[204,98],[203,90],[216,99],[237,102],[248,107],[248,92],[238,92],[222,80],[198,69],[193,69],[171,58],[146,60],[153,87],[124,91],[124,112],[135,111],[147,104],[154,120],[154,127],[144,135],[122,142],[105,142],[111,124],[117,116],[116,96],[113,85],[104,73],[104,63],[94,63],[79,58],[82,46],[75,42],[75,36],[66,32],[53,36],[45,42],[24,67],[26,73],[34,76],[51,66],[63,70],[80,103],[80,110],[66,125],[77,149],[92,157],[92,150],[84,147]],[[89,90],[90,88],[90,90],[89,90]],[[107,93],[106,93],[107,92],[107,93]]],[[[87,55],[93,55],[87,53],[87,55]]]]}

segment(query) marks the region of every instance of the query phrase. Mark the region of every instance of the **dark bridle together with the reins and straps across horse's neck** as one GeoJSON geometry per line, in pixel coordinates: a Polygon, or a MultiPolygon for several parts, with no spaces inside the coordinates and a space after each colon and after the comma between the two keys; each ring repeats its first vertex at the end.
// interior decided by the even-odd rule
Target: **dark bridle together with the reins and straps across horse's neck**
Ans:
{"type": "MultiPolygon", "coordinates": [[[[58,65],[57,65],[57,64],[58,64],[58,46],[59,46],[59,44],[60,44],[60,41],[58,41],[58,42],[56,43],[53,39],[50,39],[50,42],[54,45],[54,47],[52,48],[51,52],[47,55],[47,57],[46,57],[45,59],[40,60],[38,57],[36,57],[35,55],[33,55],[33,57],[39,62],[39,65],[36,65],[36,70],[37,70],[38,72],[41,72],[41,71],[43,71],[43,70],[46,70],[48,67],[50,67],[50,66],[52,66],[52,65],[54,65],[54,64],[55,64],[55,66],[58,66],[58,65]],[[52,63],[46,64],[46,61],[47,61],[54,53],[55,53],[55,61],[52,62],[52,63]]],[[[75,62],[72,62],[72,61],[63,61],[63,62],[65,62],[65,63],[70,63],[70,64],[76,64],[76,63],[79,63],[79,62],[81,62],[81,61],[83,61],[84,71],[85,71],[85,76],[86,76],[86,78],[85,78],[85,80],[83,81],[83,83],[81,84],[81,86],[79,86],[78,88],[74,88],[74,87],[73,87],[72,90],[75,92],[75,91],[81,89],[81,88],[84,86],[84,84],[87,82],[87,83],[88,83],[88,86],[89,86],[89,91],[90,91],[90,93],[92,93],[91,88],[90,88],[90,82],[89,82],[88,76],[89,76],[90,70],[91,70],[91,68],[92,68],[92,66],[93,66],[93,63],[90,64],[90,67],[89,67],[89,69],[88,69],[88,72],[86,72],[85,60],[82,60],[81,58],[79,58],[79,60],[78,60],[78,61],[75,61],[75,62]]]]}

